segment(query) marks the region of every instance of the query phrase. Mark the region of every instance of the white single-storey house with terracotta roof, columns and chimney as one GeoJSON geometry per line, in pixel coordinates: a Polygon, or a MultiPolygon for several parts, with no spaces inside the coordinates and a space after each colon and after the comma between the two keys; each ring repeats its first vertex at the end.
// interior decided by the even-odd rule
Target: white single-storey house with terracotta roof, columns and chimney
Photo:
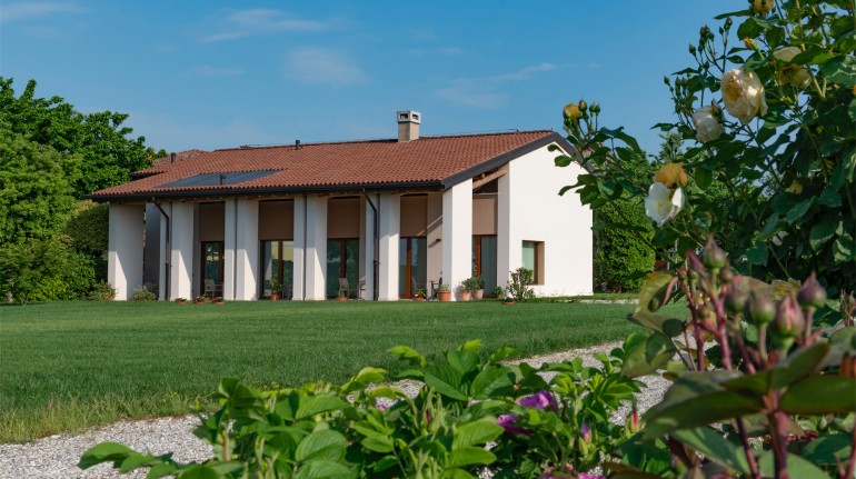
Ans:
{"type": "Polygon", "coordinates": [[[108,281],[131,299],[283,293],[412,298],[480,275],[488,293],[535,270],[537,295],[591,292],[591,211],[559,189],[573,147],[549,130],[191,150],[89,198],[110,203],[108,281]],[[344,278],[340,280],[340,278],[344,278]],[[212,290],[216,289],[216,290],[212,290]]]}

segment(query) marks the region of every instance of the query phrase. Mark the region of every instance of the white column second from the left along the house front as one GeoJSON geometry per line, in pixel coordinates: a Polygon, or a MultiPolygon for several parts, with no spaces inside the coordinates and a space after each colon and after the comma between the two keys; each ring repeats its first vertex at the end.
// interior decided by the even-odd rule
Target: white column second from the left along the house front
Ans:
{"type": "Polygon", "coordinates": [[[172,299],[189,299],[193,296],[193,204],[173,201],[171,222],[169,296],[172,299]]]}

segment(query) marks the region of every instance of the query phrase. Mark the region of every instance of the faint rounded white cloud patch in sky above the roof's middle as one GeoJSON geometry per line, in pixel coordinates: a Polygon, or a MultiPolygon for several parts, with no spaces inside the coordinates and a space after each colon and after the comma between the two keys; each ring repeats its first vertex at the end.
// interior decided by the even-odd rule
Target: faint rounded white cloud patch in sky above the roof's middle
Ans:
{"type": "Polygon", "coordinates": [[[368,73],[345,52],[319,47],[291,50],[286,56],[283,74],[303,83],[329,84],[334,88],[366,83],[369,80],[368,73]]]}

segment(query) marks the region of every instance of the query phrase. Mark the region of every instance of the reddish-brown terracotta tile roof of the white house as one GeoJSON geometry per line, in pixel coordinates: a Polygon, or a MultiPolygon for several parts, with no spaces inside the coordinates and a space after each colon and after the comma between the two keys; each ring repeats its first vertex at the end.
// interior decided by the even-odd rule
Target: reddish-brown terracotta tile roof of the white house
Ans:
{"type": "MultiPolygon", "coordinates": [[[[422,137],[410,142],[397,140],[345,141],[279,147],[193,151],[180,161],[159,159],[138,173],[151,174],[96,191],[92,199],[178,197],[217,192],[300,192],[352,188],[406,188],[408,184],[441,189],[458,176],[477,174],[507,163],[515,156],[558,142],[569,146],[550,130],[491,134],[422,137]],[[275,170],[272,173],[233,184],[163,187],[203,173],[275,170]]],[[[460,181],[464,177],[457,179],[460,181]]]]}

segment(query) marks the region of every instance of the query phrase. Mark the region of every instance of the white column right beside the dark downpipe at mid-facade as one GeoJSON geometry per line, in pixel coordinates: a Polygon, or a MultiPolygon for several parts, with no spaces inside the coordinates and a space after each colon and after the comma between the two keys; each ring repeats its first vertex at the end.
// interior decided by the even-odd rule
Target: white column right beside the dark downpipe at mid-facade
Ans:
{"type": "Polygon", "coordinates": [[[398,301],[398,256],[401,229],[401,197],[385,193],[380,196],[380,259],[378,299],[398,301]]]}

